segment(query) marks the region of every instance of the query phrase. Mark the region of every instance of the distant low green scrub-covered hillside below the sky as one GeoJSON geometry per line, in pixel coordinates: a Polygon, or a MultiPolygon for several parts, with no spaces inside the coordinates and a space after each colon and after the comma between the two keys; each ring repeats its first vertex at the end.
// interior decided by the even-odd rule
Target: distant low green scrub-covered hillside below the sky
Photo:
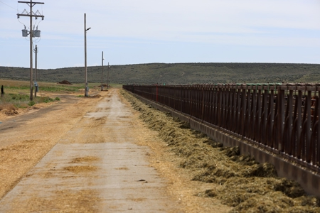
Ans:
{"type": "MultiPolygon", "coordinates": [[[[0,78],[30,80],[29,68],[0,67],[0,78]]],[[[102,67],[87,67],[88,82],[101,82],[102,67]]],[[[112,65],[112,83],[205,84],[230,82],[320,82],[320,65],[279,63],[151,63],[112,65]]],[[[85,81],[84,67],[38,70],[38,81],[85,81]]],[[[107,82],[107,66],[103,82],[107,82]]]]}

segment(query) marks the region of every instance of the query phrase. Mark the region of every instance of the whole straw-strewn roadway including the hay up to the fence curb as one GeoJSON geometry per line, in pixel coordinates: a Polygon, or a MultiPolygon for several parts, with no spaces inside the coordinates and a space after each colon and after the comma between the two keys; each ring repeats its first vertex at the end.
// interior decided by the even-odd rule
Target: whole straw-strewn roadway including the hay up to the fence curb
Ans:
{"type": "Polygon", "coordinates": [[[272,165],[127,92],[97,93],[0,114],[0,212],[320,211],[272,165]]]}

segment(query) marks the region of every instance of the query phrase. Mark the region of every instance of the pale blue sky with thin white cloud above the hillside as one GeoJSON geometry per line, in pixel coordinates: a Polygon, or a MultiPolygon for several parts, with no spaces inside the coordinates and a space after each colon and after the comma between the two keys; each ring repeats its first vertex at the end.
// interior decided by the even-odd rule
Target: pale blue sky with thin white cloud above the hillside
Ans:
{"type": "MultiPolygon", "coordinates": [[[[24,0],[27,1],[27,0],[24,0]]],[[[319,0],[37,0],[38,68],[149,62],[320,63],[319,0]],[[40,22],[41,21],[41,22],[40,22]]],[[[0,66],[29,67],[27,4],[0,0],[0,66]],[[20,22],[19,22],[20,21],[20,22]]]]}

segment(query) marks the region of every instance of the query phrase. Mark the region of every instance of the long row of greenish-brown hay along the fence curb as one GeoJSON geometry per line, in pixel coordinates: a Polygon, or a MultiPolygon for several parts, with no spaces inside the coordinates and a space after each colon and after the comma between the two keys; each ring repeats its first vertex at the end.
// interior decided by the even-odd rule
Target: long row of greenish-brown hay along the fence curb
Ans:
{"type": "Polygon", "coordinates": [[[127,92],[122,95],[140,111],[140,118],[183,158],[181,168],[190,170],[196,181],[213,182],[217,187],[196,196],[216,197],[234,207],[231,212],[320,212],[316,197],[306,196],[293,180],[278,178],[274,166],[260,164],[238,147],[223,147],[186,122],[142,104],[127,92]]]}

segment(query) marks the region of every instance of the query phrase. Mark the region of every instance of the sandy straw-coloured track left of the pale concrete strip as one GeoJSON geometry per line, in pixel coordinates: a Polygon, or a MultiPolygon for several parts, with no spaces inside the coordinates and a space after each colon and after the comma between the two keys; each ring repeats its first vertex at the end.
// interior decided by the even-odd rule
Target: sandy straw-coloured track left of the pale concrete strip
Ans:
{"type": "Polygon", "coordinates": [[[0,124],[0,197],[33,168],[98,99],[64,96],[61,102],[0,124]]]}

